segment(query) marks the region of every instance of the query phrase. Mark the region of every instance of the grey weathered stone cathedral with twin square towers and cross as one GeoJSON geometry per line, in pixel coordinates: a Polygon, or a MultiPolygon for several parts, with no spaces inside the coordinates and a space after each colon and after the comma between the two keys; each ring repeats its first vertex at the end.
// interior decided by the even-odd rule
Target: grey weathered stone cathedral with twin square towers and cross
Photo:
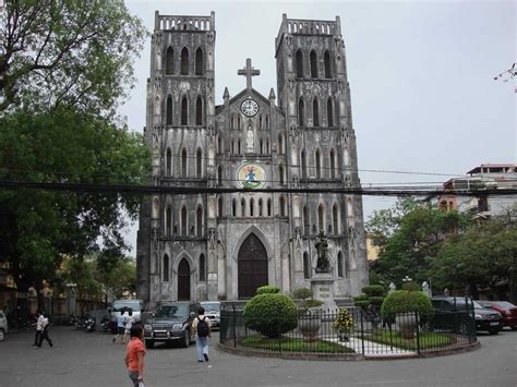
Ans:
{"type": "MultiPolygon", "coordinates": [[[[263,285],[311,288],[315,244],[328,242],[332,297],[368,285],[356,135],[339,17],[282,15],[275,40],[276,93],[245,88],[215,100],[215,14],[155,13],[145,140],[153,194],[141,207],[137,294],[245,300],[263,285]]],[[[237,69],[236,69],[237,70],[237,69]]],[[[244,84],[244,80],[243,80],[244,84]]]]}

